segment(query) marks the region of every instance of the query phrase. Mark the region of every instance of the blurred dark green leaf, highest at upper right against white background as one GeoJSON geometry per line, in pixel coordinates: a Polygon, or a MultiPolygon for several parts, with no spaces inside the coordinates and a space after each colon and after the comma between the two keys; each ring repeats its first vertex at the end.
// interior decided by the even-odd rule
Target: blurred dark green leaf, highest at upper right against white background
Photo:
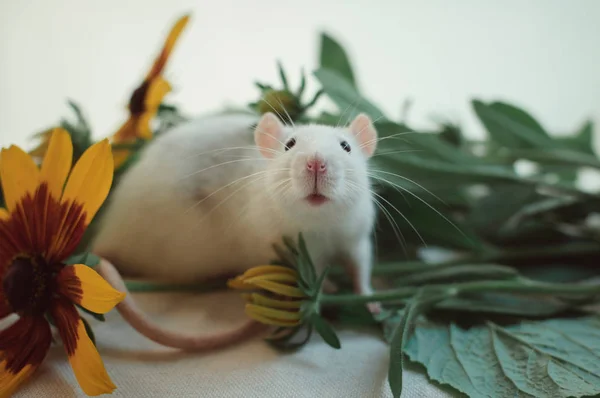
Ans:
{"type": "Polygon", "coordinates": [[[509,148],[551,148],[557,145],[527,112],[503,102],[472,102],[475,113],[492,139],[509,148]]]}

